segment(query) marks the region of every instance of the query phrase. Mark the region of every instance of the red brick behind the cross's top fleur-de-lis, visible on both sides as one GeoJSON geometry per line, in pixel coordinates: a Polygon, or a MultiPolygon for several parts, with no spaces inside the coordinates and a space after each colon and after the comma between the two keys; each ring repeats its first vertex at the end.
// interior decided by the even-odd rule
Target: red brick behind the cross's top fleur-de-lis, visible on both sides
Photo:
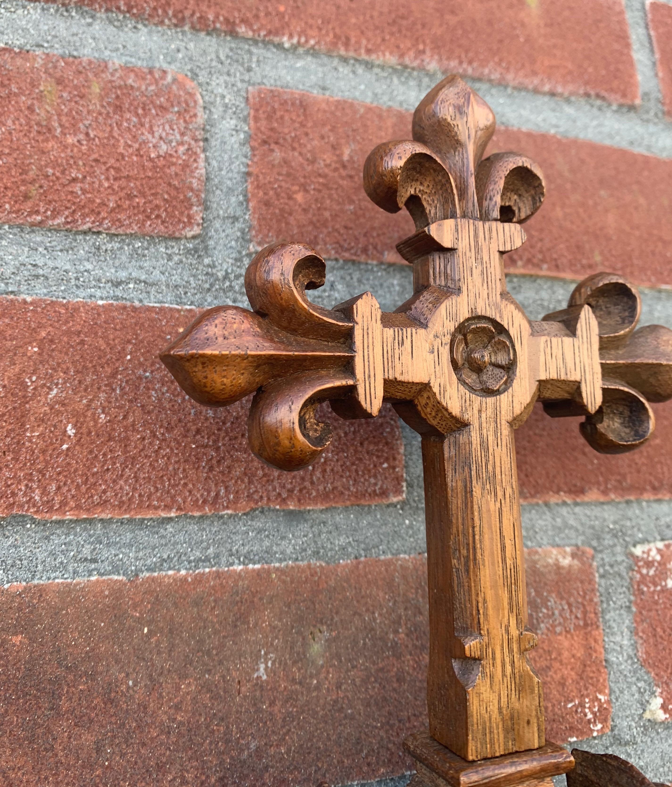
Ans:
{"type": "MultiPolygon", "coordinates": [[[[394,246],[412,221],[367,198],[362,168],[379,142],[410,138],[411,114],[275,88],[250,91],[249,107],[254,242],[301,240],[327,257],[401,262],[394,246]]],[[[606,270],[672,283],[672,161],[508,128],[488,154],[497,150],[529,155],[547,183],[527,242],[505,258],[508,270],[575,279],[606,270]]]]}

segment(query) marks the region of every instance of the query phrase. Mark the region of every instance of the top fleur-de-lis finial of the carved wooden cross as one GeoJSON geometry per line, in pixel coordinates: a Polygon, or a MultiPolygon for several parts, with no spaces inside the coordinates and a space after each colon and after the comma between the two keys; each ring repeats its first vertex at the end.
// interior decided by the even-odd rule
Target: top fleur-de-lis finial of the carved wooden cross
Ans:
{"type": "Polygon", "coordinates": [[[382,209],[405,207],[422,229],[458,217],[520,224],[540,208],[544,179],[534,161],[516,153],[482,161],[495,116],[459,76],[426,94],[412,128],[412,141],[384,142],[364,164],[364,189],[382,209]]]}

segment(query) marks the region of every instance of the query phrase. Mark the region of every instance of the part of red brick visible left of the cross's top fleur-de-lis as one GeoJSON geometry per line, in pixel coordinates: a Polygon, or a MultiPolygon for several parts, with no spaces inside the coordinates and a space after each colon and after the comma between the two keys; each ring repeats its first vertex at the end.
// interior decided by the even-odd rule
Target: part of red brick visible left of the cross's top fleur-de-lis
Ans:
{"type": "Polygon", "coordinates": [[[411,116],[342,98],[257,87],[249,91],[249,209],[253,240],[301,240],[323,257],[404,263],[406,211],[364,194],[362,170],[378,142],[408,138],[411,116]]]}

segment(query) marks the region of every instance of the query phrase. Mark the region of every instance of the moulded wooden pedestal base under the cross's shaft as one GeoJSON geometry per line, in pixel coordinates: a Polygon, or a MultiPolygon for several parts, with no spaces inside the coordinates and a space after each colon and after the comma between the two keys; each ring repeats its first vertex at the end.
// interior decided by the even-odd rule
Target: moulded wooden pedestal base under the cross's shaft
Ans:
{"type": "Polygon", "coordinates": [[[554,743],[474,762],[458,757],[429,732],[406,738],[404,748],[417,770],[409,787],[553,787],[552,776],[574,767],[567,749],[554,743]]]}

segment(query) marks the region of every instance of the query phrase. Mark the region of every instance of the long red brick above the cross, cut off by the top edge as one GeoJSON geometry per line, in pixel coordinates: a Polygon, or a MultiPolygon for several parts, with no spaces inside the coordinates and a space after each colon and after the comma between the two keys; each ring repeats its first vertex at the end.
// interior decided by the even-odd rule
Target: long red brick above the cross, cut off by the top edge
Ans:
{"type": "Polygon", "coordinates": [[[197,30],[458,71],[537,91],[639,100],[622,0],[61,0],[197,30]],[[595,46],[599,41],[600,46],[595,46]]]}

